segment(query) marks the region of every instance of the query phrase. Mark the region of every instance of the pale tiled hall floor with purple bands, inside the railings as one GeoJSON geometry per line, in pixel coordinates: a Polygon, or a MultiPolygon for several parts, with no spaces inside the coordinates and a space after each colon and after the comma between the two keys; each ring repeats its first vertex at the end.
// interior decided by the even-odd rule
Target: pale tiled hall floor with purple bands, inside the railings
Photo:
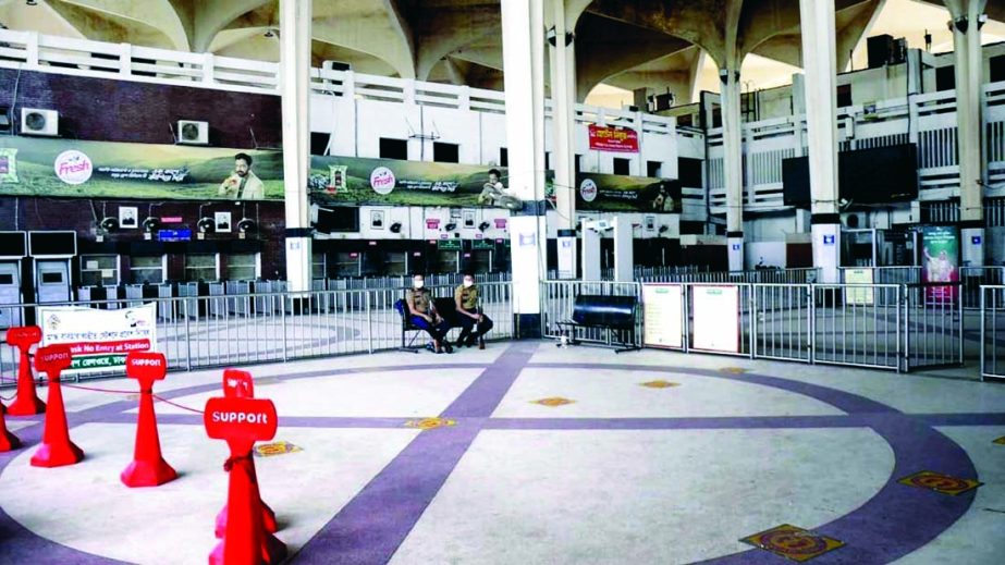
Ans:
{"type": "MultiPolygon", "coordinates": [[[[814,564],[1005,554],[1001,384],[543,342],[250,371],[277,440],[301,447],[256,459],[292,563],[790,563],[743,541],[781,525],[810,532],[759,539],[814,564]],[[983,484],[897,482],[926,470],[983,484]]],[[[157,391],[198,409],[220,378],[172,373],[157,391]]],[[[135,397],[65,396],[77,465],[30,467],[41,417],[8,418],[27,447],[0,454],[0,562],[205,563],[226,475],[201,417],[158,403],[181,476],[127,489],[135,397]]]]}

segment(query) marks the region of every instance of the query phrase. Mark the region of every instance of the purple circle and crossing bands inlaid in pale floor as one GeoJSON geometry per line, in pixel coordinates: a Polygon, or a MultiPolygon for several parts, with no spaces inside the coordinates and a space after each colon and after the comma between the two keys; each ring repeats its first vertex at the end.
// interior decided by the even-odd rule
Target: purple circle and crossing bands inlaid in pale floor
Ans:
{"type": "MultiPolygon", "coordinates": [[[[865,396],[838,391],[828,386],[810,384],[747,372],[733,374],[711,369],[678,367],[653,367],[644,365],[609,365],[583,363],[532,363],[537,343],[517,342],[508,345],[494,363],[486,364],[482,373],[438,418],[455,420],[457,426],[442,427],[419,433],[415,439],[360,490],[342,509],[304,545],[291,563],[330,563],[333,554],[341,563],[387,563],[420,518],[422,511],[436,498],[440,487],[464,456],[481,429],[798,429],[818,427],[863,427],[873,430],[892,447],[895,455],[894,470],[886,484],[866,504],[851,513],[823,525],[805,525],[813,531],[845,543],[838,551],[825,554],[814,563],[890,563],[926,545],[967,513],[975,498],[975,491],[958,496],[946,496],[932,491],[897,484],[898,478],[920,470],[934,470],[955,477],[978,479],[977,470],[967,453],[936,431],[924,418],[906,415],[887,405],[865,396]],[[724,379],[755,383],[808,396],[826,403],[843,415],[823,416],[775,416],[775,417],[721,417],[721,418],[579,418],[579,419],[503,419],[493,421],[492,413],[524,368],[561,368],[576,370],[618,370],[683,373],[708,379],[724,379]],[[467,420],[465,420],[467,419],[467,420]],[[436,455],[429,464],[429,455],[436,455]],[[422,465],[416,465],[416,462],[422,465]],[[409,493],[388,495],[389,486],[407,480],[421,488],[409,493]],[[371,516],[375,512],[394,512],[381,520],[382,526],[373,530],[371,516]],[[896,519],[892,519],[896,516],[896,519]],[[366,527],[367,542],[357,543],[354,532],[366,527]]],[[[471,365],[466,365],[470,367],[471,365]]],[[[281,376],[283,382],[324,377],[340,373],[382,371],[408,371],[451,369],[457,365],[420,365],[348,368],[331,371],[314,371],[305,374],[281,376]]],[[[216,384],[201,384],[173,390],[167,397],[180,397],[213,390],[216,384]]],[[[112,402],[98,407],[71,414],[74,427],[88,422],[128,422],[135,416],[124,414],[135,408],[134,402],[112,402]]],[[[980,415],[978,415],[980,416],[980,415]]],[[[40,422],[41,417],[35,417],[40,422]]],[[[175,416],[174,422],[195,423],[198,416],[175,416]]],[[[299,418],[292,425],[310,427],[399,427],[404,423],[388,421],[387,418],[299,418]]],[[[24,421],[24,420],[21,420],[24,421]]],[[[289,425],[289,423],[287,423],[289,425]]],[[[0,474],[8,464],[26,450],[34,451],[41,434],[41,426],[20,428],[17,434],[27,445],[19,451],[0,454],[0,474]]],[[[0,475],[2,480],[2,475],[0,475]]],[[[390,489],[394,491],[394,489],[390,489]]],[[[402,489],[397,489],[401,491],[402,489]]],[[[68,509],[60,519],[73,519],[68,509]]],[[[44,539],[2,512],[0,498],[0,561],[24,560],[30,555],[33,563],[79,563],[105,564],[117,561],[74,550],[66,545],[44,539]]],[[[208,552],[209,549],[207,549],[208,552]]],[[[767,551],[748,551],[722,555],[706,563],[781,563],[784,560],[767,551]]]]}

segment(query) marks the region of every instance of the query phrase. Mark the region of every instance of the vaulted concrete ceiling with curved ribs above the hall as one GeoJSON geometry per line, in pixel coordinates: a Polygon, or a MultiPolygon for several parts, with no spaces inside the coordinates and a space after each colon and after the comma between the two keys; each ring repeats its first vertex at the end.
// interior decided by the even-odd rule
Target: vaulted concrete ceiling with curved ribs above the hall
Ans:
{"type": "MultiPolygon", "coordinates": [[[[886,0],[834,0],[837,64],[886,0]]],[[[941,0],[923,0],[942,5],[941,0]]],[[[979,0],[945,0],[946,2],[979,0]]],[[[279,60],[279,0],[0,0],[13,29],[279,60]]],[[[550,0],[546,0],[550,5],[550,0]]],[[[1005,1],[986,2],[992,19],[1005,1]]],[[[737,69],[755,53],[799,65],[798,0],[565,0],[575,22],[578,98],[598,84],[670,88],[690,98],[700,54],[737,69]]],[[[547,11],[547,19],[551,11],[547,11]]],[[[314,0],[312,63],[502,86],[500,0],[314,0]]]]}

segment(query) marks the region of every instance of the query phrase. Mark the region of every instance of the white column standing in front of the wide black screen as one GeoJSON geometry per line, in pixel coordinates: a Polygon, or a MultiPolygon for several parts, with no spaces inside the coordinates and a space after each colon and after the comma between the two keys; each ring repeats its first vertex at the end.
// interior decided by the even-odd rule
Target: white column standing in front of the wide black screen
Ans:
{"type": "Polygon", "coordinates": [[[836,283],[841,249],[837,213],[837,91],[834,2],[799,0],[806,125],[809,140],[813,266],[836,283]]]}

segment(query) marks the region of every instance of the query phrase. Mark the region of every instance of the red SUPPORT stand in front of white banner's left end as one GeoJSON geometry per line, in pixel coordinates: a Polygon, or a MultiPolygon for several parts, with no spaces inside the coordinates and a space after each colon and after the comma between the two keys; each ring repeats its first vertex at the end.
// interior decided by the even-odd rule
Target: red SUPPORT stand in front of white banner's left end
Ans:
{"type": "Polygon", "coordinates": [[[35,369],[49,377],[49,409],[46,412],[41,445],[32,456],[35,467],[73,465],[84,458],[84,452],[70,441],[63,391],[59,385],[60,373],[70,367],[72,360],[69,345],[49,345],[35,353],[35,369]]]}

